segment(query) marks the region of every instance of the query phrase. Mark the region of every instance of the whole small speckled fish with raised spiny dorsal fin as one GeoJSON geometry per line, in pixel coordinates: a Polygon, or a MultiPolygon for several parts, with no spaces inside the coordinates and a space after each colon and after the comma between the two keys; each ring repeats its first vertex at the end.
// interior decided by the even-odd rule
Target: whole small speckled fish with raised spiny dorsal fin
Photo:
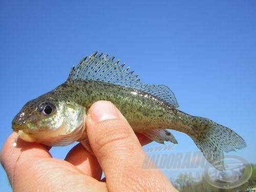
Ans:
{"type": "Polygon", "coordinates": [[[64,83],[27,102],[12,120],[18,137],[48,146],[82,143],[87,140],[85,121],[90,106],[108,100],[134,132],[153,141],[177,144],[167,129],[187,134],[219,170],[225,169],[223,152],[246,147],[244,139],[228,127],[178,110],[176,97],[167,86],[146,84],[114,56],[102,55],[94,52],[83,57],[64,83]]]}

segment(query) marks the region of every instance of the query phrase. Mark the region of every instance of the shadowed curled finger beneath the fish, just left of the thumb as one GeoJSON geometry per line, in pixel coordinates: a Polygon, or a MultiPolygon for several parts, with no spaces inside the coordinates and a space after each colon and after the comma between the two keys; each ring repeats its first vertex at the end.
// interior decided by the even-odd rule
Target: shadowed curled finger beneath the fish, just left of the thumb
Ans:
{"type": "Polygon", "coordinates": [[[78,143],[70,150],[65,160],[75,165],[84,174],[97,180],[101,179],[102,169],[96,157],[86,151],[81,143],[78,143]]]}

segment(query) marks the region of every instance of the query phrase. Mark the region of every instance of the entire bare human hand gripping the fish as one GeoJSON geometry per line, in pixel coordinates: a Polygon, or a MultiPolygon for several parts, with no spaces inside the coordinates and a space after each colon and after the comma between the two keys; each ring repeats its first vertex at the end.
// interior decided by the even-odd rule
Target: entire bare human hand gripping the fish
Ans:
{"type": "Polygon", "coordinates": [[[1,163],[14,191],[177,191],[158,169],[141,169],[150,142],[109,101],[95,102],[86,120],[94,155],[79,143],[65,160],[52,158],[51,147],[29,143],[12,133],[1,163]],[[102,170],[105,179],[101,179],[102,170]]]}

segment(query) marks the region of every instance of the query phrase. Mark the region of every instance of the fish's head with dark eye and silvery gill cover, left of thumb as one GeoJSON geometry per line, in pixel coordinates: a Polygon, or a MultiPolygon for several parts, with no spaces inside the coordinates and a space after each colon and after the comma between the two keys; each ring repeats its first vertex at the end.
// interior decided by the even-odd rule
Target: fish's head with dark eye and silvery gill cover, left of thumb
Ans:
{"type": "Polygon", "coordinates": [[[65,95],[47,93],[23,106],[12,120],[12,129],[28,142],[68,145],[84,134],[85,111],[65,95]]]}

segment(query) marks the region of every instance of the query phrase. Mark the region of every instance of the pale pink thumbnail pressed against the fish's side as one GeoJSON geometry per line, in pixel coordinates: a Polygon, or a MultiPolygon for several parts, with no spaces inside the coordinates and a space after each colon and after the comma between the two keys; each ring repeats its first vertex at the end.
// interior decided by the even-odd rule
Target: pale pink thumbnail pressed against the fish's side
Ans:
{"type": "Polygon", "coordinates": [[[110,101],[97,101],[91,106],[90,116],[93,121],[99,122],[119,118],[119,112],[110,101]]]}

